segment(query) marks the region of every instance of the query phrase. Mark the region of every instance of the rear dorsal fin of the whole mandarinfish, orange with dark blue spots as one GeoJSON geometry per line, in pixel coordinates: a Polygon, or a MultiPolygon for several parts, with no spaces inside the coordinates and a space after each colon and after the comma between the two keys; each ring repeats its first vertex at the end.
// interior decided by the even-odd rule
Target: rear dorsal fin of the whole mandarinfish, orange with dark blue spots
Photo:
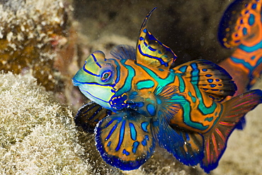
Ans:
{"type": "Polygon", "coordinates": [[[173,68],[183,73],[214,101],[222,101],[233,96],[237,86],[232,77],[222,67],[207,60],[194,60],[173,68]]]}

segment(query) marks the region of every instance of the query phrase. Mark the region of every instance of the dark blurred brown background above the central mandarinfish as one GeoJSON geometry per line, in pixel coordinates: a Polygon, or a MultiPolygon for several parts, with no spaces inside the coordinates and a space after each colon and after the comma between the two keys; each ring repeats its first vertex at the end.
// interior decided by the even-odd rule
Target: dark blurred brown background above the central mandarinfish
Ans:
{"type": "Polygon", "coordinates": [[[232,52],[217,40],[217,26],[231,2],[74,0],[74,17],[91,40],[113,33],[136,41],[144,17],[156,6],[149,31],[176,53],[176,64],[195,59],[218,63],[232,52]]]}

